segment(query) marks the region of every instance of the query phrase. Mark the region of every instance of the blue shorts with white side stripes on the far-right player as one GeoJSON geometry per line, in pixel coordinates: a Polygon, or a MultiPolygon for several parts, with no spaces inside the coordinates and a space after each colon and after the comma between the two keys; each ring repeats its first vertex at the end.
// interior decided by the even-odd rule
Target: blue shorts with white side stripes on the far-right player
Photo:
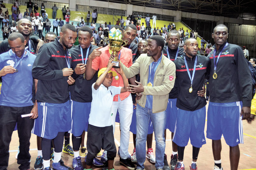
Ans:
{"type": "Polygon", "coordinates": [[[241,101],[209,102],[206,137],[219,140],[223,134],[226,144],[231,147],[244,143],[242,117],[240,116],[242,105],[241,101]]]}

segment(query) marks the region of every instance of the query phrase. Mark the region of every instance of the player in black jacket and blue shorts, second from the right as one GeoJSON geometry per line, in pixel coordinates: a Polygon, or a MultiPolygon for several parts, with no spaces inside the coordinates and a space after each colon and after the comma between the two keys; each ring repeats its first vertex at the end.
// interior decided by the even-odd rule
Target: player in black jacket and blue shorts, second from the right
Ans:
{"type": "Polygon", "coordinates": [[[185,41],[186,55],[174,61],[176,66],[176,83],[178,89],[178,108],[173,142],[177,144],[178,163],[175,170],[184,170],[184,149],[190,139],[193,146],[192,164],[190,170],[196,170],[196,161],[200,147],[205,142],[204,125],[206,117],[206,100],[199,96],[204,79],[208,78],[210,60],[207,57],[196,55],[198,42],[195,38],[185,41]]]}

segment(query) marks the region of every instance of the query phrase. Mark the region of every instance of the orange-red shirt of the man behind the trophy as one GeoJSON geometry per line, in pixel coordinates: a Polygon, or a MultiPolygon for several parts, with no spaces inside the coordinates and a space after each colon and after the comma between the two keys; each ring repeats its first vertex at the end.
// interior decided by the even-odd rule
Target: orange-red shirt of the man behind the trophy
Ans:
{"type": "MultiPolygon", "coordinates": [[[[104,47],[102,49],[99,49],[99,51],[101,51],[101,55],[99,57],[94,58],[94,60],[92,61],[92,69],[100,70],[100,69],[102,69],[104,67],[107,67],[107,63],[108,63],[108,60],[109,60],[109,57],[110,57],[110,53],[109,53],[108,49],[109,49],[108,46],[106,46],[106,47],[104,47]]],[[[131,49],[123,47],[120,52],[121,52],[120,61],[126,67],[130,67],[132,65],[132,52],[131,52],[131,49]]],[[[119,53],[117,54],[117,56],[119,56],[119,53]]],[[[111,70],[115,71],[114,68],[112,68],[111,70]]],[[[121,75],[118,74],[118,73],[117,73],[117,75],[118,75],[118,79],[117,80],[115,79],[115,77],[113,77],[112,86],[124,87],[124,82],[123,82],[123,79],[122,79],[121,75]]],[[[130,92],[126,91],[124,93],[121,93],[120,95],[114,96],[113,101],[118,101],[118,96],[120,97],[121,100],[124,100],[129,95],[130,95],[130,92]]]]}

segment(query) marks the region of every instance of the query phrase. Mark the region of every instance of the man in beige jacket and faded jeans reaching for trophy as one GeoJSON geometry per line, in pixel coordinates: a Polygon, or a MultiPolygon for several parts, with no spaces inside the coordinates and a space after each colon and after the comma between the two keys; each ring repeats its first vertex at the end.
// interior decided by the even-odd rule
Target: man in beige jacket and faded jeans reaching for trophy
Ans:
{"type": "Polygon", "coordinates": [[[176,72],[175,64],[167,57],[162,57],[164,44],[162,36],[151,36],[148,40],[147,54],[141,54],[129,68],[120,62],[127,78],[140,74],[140,82],[135,81],[138,85],[129,85],[131,93],[142,94],[137,101],[136,108],[137,170],[144,169],[146,138],[150,118],[156,140],[155,167],[160,170],[164,166],[166,108],[168,94],[174,86],[176,72]]]}

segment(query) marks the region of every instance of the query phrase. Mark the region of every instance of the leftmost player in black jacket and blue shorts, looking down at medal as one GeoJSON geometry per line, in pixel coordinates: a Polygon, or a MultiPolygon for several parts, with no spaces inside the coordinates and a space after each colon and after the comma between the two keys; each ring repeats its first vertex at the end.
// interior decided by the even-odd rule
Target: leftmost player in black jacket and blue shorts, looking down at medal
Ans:
{"type": "Polygon", "coordinates": [[[71,114],[68,86],[75,80],[71,77],[71,53],[68,49],[75,43],[76,29],[65,24],[60,39],[42,46],[32,68],[32,76],[38,79],[36,100],[40,119],[38,136],[42,139],[43,166],[50,169],[51,142],[54,142],[53,169],[70,168],[61,160],[65,132],[71,129],[71,114]]]}

